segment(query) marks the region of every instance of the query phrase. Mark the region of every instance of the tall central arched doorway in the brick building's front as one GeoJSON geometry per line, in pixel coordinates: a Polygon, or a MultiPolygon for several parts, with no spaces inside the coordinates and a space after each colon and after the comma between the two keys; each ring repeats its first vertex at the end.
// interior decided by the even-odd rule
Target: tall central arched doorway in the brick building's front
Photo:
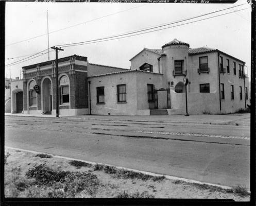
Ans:
{"type": "Polygon", "coordinates": [[[52,113],[52,82],[49,78],[43,80],[42,85],[43,113],[52,113]]]}

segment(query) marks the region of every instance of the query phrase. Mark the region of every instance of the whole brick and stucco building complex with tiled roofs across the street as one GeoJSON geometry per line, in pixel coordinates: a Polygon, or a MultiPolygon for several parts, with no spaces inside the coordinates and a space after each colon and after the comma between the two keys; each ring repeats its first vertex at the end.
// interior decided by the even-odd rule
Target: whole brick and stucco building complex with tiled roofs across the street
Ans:
{"type": "MultiPolygon", "coordinates": [[[[58,62],[60,115],[184,114],[184,77],[190,114],[233,113],[249,104],[244,61],[177,39],[162,49],[144,48],[130,59],[130,70],[77,55],[58,62]]],[[[55,82],[55,60],[24,66],[23,113],[55,114],[55,82]]]]}

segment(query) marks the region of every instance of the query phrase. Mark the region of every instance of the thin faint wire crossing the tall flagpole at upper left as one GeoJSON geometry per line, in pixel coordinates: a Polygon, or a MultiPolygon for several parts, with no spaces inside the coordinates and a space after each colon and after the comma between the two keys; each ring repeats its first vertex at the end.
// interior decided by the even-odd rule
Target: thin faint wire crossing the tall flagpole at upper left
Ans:
{"type": "MultiPolygon", "coordinates": [[[[82,23],[75,24],[75,25],[72,25],[72,26],[64,27],[62,29],[51,31],[51,32],[49,32],[49,34],[50,33],[55,33],[55,32],[58,32],[58,31],[62,31],[64,29],[72,28],[72,27],[75,27],[75,26],[78,26],[78,25],[81,25],[81,24],[86,24],[88,22],[93,22],[93,21],[96,21],[96,20],[99,20],[99,19],[106,18],[106,17],[111,16],[111,15],[115,15],[115,14],[118,14],[118,13],[122,13],[122,12],[125,12],[125,11],[128,11],[128,10],[135,9],[135,8],[138,8],[138,7],[142,7],[142,6],[146,6],[146,5],[148,5],[148,4],[143,4],[143,5],[140,5],[140,6],[137,6],[137,7],[132,7],[132,8],[126,9],[126,10],[118,11],[118,12],[115,12],[115,13],[110,13],[108,15],[100,16],[98,18],[95,18],[95,19],[92,19],[92,20],[89,20],[89,21],[86,21],[86,22],[82,22],[82,23]]],[[[43,35],[39,35],[39,36],[36,36],[36,37],[31,37],[31,38],[28,38],[28,39],[25,39],[25,40],[22,40],[22,41],[19,41],[19,42],[14,42],[14,43],[11,43],[11,44],[7,44],[6,46],[11,46],[11,45],[18,44],[18,43],[21,43],[21,42],[25,42],[25,41],[31,40],[31,39],[36,39],[36,38],[39,38],[39,37],[43,37],[45,35],[47,35],[47,33],[44,33],[43,35]]]]}

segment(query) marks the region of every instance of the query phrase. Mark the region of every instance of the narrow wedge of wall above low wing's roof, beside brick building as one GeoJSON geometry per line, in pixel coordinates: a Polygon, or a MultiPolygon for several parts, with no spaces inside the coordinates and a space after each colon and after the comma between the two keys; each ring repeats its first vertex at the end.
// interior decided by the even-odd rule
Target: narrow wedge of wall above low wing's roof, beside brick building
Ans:
{"type": "Polygon", "coordinates": [[[118,67],[88,63],[88,77],[91,77],[94,75],[100,75],[100,74],[108,74],[108,73],[113,73],[113,72],[124,72],[127,70],[125,68],[118,68],[118,67]]]}

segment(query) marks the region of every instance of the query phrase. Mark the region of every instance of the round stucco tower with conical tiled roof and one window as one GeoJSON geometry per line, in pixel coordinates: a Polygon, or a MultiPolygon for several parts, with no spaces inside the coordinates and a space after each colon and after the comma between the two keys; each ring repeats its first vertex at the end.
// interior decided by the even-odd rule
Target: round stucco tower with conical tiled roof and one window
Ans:
{"type": "Polygon", "coordinates": [[[174,39],[162,46],[165,56],[163,74],[167,82],[174,82],[174,87],[187,76],[189,70],[189,47],[190,45],[174,39]]]}

